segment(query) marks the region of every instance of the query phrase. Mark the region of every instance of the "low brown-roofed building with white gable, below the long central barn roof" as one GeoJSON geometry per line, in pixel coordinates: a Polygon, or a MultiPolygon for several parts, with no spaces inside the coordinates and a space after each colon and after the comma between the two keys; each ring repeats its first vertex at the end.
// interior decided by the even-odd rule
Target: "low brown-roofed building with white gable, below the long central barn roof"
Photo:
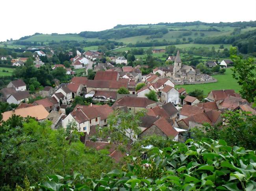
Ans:
{"type": "Polygon", "coordinates": [[[96,102],[115,102],[117,100],[116,91],[91,90],[85,95],[85,98],[92,97],[96,102]]]}

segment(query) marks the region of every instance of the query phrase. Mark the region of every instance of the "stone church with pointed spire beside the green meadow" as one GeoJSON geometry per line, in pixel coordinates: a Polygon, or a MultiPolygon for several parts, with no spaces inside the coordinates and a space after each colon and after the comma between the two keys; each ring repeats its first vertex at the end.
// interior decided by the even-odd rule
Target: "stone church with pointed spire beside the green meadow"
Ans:
{"type": "Polygon", "coordinates": [[[179,51],[175,57],[174,65],[169,65],[169,67],[158,67],[153,70],[153,73],[159,73],[161,76],[169,77],[171,80],[178,82],[201,81],[202,76],[199,69],[182,64],[179,51]]]}

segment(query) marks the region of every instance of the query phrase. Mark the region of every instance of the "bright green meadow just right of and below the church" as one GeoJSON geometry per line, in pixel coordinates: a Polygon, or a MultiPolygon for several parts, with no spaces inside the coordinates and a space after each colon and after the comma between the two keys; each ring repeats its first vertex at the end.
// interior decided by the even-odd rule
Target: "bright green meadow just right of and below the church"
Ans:
{"type": "Polygon", "coordinates": [[[234,89],[237,93],[241,89],[237,84],[237,81],[232,77],[232,71],[230,68],[226,69],[224,75],[214,75],[218,82],[208,84],[191,84],[191,85],[176,85],[176,88],[184,87],[186,92],[189,93],[195,89],[204,91],[204,96],[207,97],[211,90],[217,89],[234,89]]]}

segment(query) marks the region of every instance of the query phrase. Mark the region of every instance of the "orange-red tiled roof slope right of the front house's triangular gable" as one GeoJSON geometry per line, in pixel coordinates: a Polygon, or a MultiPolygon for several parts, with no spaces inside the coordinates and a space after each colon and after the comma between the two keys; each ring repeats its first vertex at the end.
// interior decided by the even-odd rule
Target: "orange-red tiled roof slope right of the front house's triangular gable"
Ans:
{"type": "Polygon", "coordinates": [[[175,137],[179,134],[178,131],[176,131],[173,126],[171,126],[171,124],[169,124],[169,122],[163,117],[154,122],[154,124],[167,136],[175,137]]]}

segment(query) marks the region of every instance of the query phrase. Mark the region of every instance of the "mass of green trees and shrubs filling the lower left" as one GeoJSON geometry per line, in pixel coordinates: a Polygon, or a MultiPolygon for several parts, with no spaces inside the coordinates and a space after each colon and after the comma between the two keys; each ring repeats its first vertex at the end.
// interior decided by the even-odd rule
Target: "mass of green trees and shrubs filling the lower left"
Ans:
{"type": "Polygon", "coordinates": [[[108,172],[111,158],[87,151],[80,135],[72,122],[67,129],[53,130],[50,121],[22,121],[13,116],[0,128],[0,187],[21,185],[24,176],[35,184],[55,173],[64,176],[80,171],[98,177],[108,172]]]}

